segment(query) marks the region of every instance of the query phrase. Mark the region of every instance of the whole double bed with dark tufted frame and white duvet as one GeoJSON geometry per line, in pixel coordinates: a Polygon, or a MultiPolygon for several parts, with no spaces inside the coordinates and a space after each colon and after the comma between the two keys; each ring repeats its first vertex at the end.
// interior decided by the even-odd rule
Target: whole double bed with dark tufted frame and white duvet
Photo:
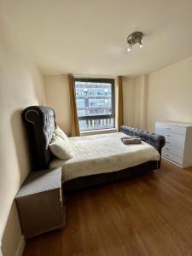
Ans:
{"type": "Polygon", "coordinates": [[[50,153],[49,143],[55,132],[55,111],[31,106],[22,113],[32,150],[32,169],[62,167],[64,190],[82,189],[113,182],[160,168],[165,138],[148,131],[121,126],[120,132],[86,137],[69,137],[73,159],[58,160],[50,153]],[[137,136],[142,143],[125,145],[122,137],[137,136]]]}

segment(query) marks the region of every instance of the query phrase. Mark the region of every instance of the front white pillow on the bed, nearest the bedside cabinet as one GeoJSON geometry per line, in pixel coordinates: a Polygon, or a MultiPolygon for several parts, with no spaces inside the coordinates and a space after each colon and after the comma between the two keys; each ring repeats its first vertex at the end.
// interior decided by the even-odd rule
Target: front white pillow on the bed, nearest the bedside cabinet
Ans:
{"type": "Polygon", "coordinates": [[[70,144],[61,139],[61,137],[53,136],[52,142],[49,144],[50,151],[61,160],[73,158],[73,148],[70,144]]]}

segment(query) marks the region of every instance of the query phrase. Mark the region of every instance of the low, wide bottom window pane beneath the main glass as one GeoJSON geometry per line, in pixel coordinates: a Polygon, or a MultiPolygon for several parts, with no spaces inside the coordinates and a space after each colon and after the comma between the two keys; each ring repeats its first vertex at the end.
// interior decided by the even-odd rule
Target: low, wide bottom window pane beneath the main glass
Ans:
{"type": "Polygon", "coordinates": [[[114,127],[114,119],[79,120],[80,131],[108,129],[114,127]]]}

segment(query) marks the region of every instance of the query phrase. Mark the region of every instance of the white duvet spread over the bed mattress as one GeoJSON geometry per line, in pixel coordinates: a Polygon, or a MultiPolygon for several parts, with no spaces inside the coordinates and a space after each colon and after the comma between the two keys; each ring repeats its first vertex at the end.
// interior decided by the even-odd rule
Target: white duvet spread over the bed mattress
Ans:
{"type": "MultiPolygon", "coordinates": [[[[62,167],[63,181],[104,172],[116,172],[149,160],[160,160],[159,152],[148,143],[125,145],[116,132],[86,137],[69,137],[74,151],[70,160],[52,160],[49,167],[62,167]]],[[[128,171],[129,172],[129,171],[128,171]]]]}

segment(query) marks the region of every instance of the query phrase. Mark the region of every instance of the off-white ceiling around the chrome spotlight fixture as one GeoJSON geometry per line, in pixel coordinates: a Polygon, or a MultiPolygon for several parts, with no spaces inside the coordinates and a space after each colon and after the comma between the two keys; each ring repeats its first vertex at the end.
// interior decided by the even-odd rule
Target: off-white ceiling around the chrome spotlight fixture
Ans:
{"type": "Polygon", "coordinates": [[[191,0],[0,0],[42,73],[138,75],[192,55],[191,0]],[[144,33],[143,48],[126,37],[144,33]]]}

